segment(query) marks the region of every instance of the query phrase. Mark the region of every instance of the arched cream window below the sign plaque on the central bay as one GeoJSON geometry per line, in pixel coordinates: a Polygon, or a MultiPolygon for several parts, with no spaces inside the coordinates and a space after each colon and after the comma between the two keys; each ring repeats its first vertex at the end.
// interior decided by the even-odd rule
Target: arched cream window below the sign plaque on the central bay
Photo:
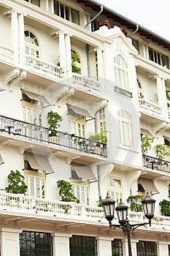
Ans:
{"type": "Polygon", "coordinates": [[[134,146],[133,127],[131,114],[125,110],[117,113],[120,127],[120,143],[122,146],[134,146]]]}

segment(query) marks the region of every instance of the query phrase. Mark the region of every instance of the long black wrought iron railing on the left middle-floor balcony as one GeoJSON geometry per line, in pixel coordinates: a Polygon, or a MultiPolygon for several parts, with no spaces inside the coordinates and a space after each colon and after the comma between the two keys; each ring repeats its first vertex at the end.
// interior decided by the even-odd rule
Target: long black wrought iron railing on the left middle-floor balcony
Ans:
{"type": "Polygon", "coordinates": [[[90,154],[96,157],[107,157],[107,145],[96,140],[88,140],[66,132],[56,132],[56,136],[50,137],[50,132],[46,127],[40,127],[25,121],[19,121],[6,116],[0,116],[0,133],[10,136],[15,135],[32,142],[47,143],[53,146],[61,146],[72,151],[80,151],[83,154],[90,154]]]}

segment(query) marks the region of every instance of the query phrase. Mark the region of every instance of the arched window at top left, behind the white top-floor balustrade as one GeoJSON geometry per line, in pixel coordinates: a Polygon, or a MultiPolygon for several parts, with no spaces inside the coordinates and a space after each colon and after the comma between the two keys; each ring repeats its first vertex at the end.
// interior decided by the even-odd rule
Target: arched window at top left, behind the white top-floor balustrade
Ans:
{"type": "Polygon", "coordinates": [[[31,31],[24,31],[26,55],[39,58],[39,42],[31,31]]]}

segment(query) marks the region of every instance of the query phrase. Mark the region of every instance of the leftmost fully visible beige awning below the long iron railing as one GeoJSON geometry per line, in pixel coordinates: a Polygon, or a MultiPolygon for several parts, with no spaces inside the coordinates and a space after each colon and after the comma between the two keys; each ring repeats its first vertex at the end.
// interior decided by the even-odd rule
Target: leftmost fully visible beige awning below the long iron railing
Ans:
{"type": "Polygon", "coordinates": [[[48,173],[54,173],[53,167],[50,165],[47,157],[40,154],[25,152],[26,158],[33,169],[45,170],[48,173]]]}

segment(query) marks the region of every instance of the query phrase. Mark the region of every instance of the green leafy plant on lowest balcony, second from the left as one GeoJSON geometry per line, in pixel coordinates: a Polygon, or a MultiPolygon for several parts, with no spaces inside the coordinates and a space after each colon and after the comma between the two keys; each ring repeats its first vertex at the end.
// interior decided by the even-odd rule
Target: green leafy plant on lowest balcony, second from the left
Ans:
{"type": "Polygon", "coordinates": [[[58,194],[61,196],[63,202],[77,202],[77,197],[73,194],[72,184],[69,181],[59,180],[57,181],[59,189],[58,194]]]}

